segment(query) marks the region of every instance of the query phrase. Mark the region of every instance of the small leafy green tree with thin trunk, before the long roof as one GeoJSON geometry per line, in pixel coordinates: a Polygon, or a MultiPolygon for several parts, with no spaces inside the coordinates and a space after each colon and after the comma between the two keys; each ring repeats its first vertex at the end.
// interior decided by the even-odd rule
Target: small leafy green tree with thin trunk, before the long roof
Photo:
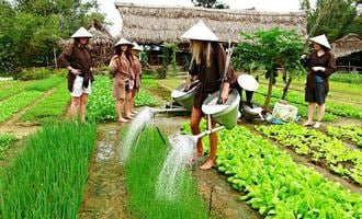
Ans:
{"type": "MultiPolygon", "coordinates": [[[[275,27],[269,31],[256,33],[240,33],[241,43],[235,48],[231,59],[237,69],[246,69],[249,73],[256,70],[263,70],[269,79],[268,95],[263,107],[268,108],[272,94],[272,85],[278,77],[278,68],[283,68],[286,81],[298,74],[303,67],[299,57],[304,49],[304,41],[295,31],[281,31],[275,27]]],[[[285,93],[287,87],[285,88],[285,93]]]]}

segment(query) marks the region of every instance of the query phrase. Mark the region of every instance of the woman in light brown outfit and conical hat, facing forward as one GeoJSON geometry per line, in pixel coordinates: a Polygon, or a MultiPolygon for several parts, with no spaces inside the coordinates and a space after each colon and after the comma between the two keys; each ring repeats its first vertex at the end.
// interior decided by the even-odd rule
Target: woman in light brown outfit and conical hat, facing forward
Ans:
{"type": "Polygon", "coordinates": [[[113,96],[115,99],[115,113],[118,123],[126,123],[127,119],[132,119],[129,99],[127,99],[127,93],[131,93],[133,89],[129,47],[133,47],[133,44],[125,38],[121,38],[114,45],[114,56],[109,66],[113,74],[113,96]],[[124,111],[124,116],[122,115],[122,110],[124,111]]]}

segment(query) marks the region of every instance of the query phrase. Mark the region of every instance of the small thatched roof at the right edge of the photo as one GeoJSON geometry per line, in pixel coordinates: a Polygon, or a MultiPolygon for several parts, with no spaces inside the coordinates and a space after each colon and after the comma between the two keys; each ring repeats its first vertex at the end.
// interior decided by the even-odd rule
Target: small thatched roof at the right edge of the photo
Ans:
{"type": "Polygon", "coordinates": [[[347,34],[331,44],[331,51],[336,58],[362,51],[362,39],[357,34],[347,34]]]}

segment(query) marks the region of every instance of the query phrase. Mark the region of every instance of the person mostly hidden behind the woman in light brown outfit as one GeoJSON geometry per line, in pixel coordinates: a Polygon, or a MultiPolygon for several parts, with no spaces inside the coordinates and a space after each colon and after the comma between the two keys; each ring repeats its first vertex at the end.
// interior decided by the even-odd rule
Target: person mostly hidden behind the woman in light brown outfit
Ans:
{"type": "Polygon", "coordinates": [[[131,115],[135,115],[137,112],[134,110],[134,100],[136,97],[136,94],[139,91],[140,88],[140,74],[142,74],[142,65],[138,59],[138,53],[142,50],[140,46],[136,42],[133,43],[133,47],[131,49],[132,53],[132,61],[133,61],[133,71],[134,71],[134,88],[132,90],[132,96],[131,96],[131,115]]]}

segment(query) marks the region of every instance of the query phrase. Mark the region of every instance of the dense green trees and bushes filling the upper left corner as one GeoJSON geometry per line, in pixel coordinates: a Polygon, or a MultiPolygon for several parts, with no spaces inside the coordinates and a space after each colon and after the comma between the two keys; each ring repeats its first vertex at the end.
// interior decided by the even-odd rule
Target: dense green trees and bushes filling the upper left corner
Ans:
{"type": "Polygon", "coordinates": [[[14,0],[0,2],[0,73],[45,66],[54,59],[60,38],[104,16],[90,13],[97,1],[14,0]],[[4,30],[4,31],[3,31],[4,30]]]}

